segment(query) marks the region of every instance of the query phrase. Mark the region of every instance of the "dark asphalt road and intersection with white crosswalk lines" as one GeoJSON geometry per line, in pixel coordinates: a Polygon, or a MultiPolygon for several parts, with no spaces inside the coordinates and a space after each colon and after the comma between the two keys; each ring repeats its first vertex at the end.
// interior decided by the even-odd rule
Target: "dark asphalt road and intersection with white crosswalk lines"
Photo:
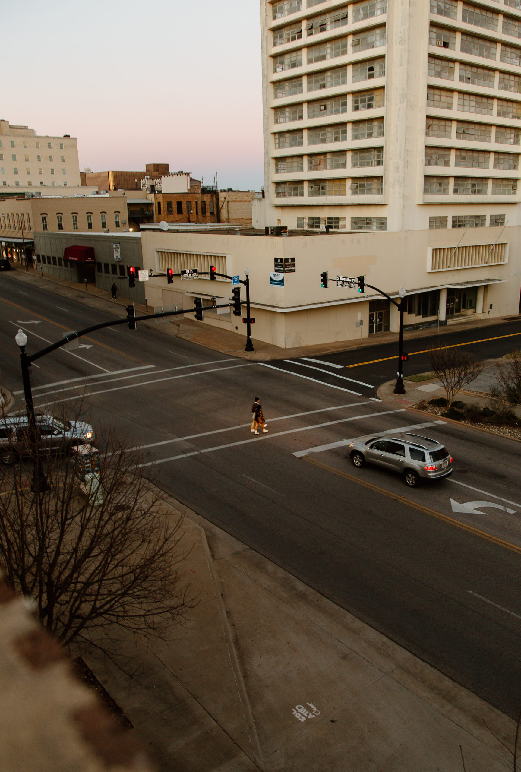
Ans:
{"type": "MultiPolygon", "coordinates": [[[[109,313],[3,274],[2,384],[22,388],[18,327],[33,353],[65,330],[105,319],[109,313]]],[[[496,337],[475,344],[488,358],[520,340],[499,337],[505,334],[521,334],[521,324],[450,337],[496,337]]],[[[113,422],[142,448],[144,464],[154,465],[161,486],[181,502],[518,716],[519,443],[376,401],[375,389],[394,374],[395,361],[386,359],[393,347],[325,357],[329,365],[257,364],[142,325],[135,332],[125,325],[101,330],[83,346],[58,350],[32,368],[42,411],[65,404],[72,416],[78,395],[86,394],[93,423],[113,422]],[[345,367],[378,358],[384,361],[345,367]],[[269,424],[259,437],[249,431],[256,396],[269,424]],[[402,427],[447,445],[455,457],[452,479],[409,490],[391,472],[354,469],[338,444],[402,427]],[[485,502],[478,513],[454,511],[476,501],[485,502]]],[[[409,347],[427,346],[418,339],[409,347]]],[[[428,369],[424,356],[411,357],[411,368],[428,369]]]]}

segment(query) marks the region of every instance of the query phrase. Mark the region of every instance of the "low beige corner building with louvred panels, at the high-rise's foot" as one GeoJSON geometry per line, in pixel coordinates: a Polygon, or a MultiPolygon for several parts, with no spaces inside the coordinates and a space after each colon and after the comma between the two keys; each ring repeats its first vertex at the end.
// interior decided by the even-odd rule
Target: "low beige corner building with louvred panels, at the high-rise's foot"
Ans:
{"type": "MultiPolygon", "coordinates": [[[[245,234],[239,231],[235,235],[232,230],[142,230],[143,266],[150,275],[149,306],[155,310],[161,306],[191,310],[197,296],[215,300],[215,305],[227,302],[232,297],[229,280],[210,282],[208,276],[183,280],[176,276],[173,284],[167,284],[164,276],[168,268],[174,273],[187,268],[208,273],[209,266],[214,265],[218,273],[239,274],[242,279],[244,269],[249,269],[255,317],[252,335],[282,348],[363,340],[384,331],[384,327],[398,330],[398,313],[389,301],[380,300],[372,289],[360,294],[356,289],[338,287],[336,280],[322,289],[323,271],[330,278],[364,274],[367,283],[394,297],[404,286],[408,293],[404,323],[411,327],[445,324],[447,314],[440,311],[447,306],[449,317],[455,317],[452,312],[501,317],[519,310],[519,276],[512,276],[519,269],[510,262],[512,255],[519,255],[521,246],[516,227],[506,227],[492,260],[485,261],[481,248],[474,252],[463,249],[448,269],[445,266],[453,249],[450,232],[444,230],[323,235],[293,232],[287,237],[251,231],[251,235],[245,234]],[[462,266],[464,259],[472,259],[474,266],[462,266]],[[277,272],[281,265],[288,271],[282,276],[277,272]]],[[[209,311],[204,323],[245,335],[242,320],[228,311],[209,311]]]]}

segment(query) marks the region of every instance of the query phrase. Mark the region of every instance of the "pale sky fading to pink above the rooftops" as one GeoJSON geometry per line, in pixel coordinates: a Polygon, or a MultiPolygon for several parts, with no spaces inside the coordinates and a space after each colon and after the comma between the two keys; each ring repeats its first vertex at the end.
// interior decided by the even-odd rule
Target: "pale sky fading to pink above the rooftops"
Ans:
{"type": "Polygon", "coordinates": [[[2,26],[0,117],[77,137],[81,170],[264,185],[259,0],[29,0],[2,26]]]}

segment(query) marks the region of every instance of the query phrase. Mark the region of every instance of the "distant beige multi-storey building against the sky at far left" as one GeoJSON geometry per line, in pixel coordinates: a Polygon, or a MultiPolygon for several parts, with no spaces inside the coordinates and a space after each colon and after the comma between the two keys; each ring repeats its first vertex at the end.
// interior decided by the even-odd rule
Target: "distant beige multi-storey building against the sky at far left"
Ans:
{"type": "Polygon", "coordinates": [[[79,188],[75,137],[47,137],[0,120],[0,195],[51,188],[79,188]],[[4,190],[5,188],[5,190],[4,190]]]}

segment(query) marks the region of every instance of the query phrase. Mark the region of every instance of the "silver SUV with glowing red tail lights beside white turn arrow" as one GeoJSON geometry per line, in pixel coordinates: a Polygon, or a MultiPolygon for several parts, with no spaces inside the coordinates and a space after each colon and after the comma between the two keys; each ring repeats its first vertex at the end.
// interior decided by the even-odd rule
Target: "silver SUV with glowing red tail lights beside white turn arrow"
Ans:
{"type": "Polygon", "coordinates": [[[358,469],[366,463],[383,466],[403,475],[415,488],[420,479],[442,479],[452,475],[452,455],[441,442],[410,432],[358,437],[349,446],[351,461],[358,469]]]}

